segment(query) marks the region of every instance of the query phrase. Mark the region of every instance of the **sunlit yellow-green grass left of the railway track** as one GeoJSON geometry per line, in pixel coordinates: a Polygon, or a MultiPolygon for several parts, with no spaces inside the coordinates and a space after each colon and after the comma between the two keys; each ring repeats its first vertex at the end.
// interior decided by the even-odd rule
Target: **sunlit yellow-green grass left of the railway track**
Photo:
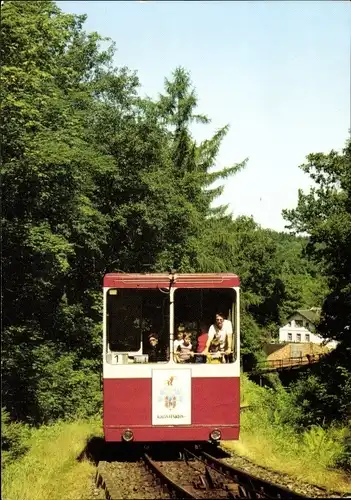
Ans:
{"type": "Polygon", "coordinates": [[[2,475],[6,500],[79,500],[91,497],[95,467],[77,461],[87,440],[102,435],[101,419],[59,422],[32,431],[29,451],[2,475]]]}

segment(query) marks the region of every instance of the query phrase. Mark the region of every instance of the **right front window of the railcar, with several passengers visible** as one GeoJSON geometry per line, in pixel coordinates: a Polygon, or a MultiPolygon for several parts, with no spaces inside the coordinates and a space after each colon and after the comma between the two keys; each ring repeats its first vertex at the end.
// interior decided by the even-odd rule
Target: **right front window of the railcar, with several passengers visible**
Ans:
{"type": "Polygon", "coordinates": [[[236,357],[236,292],[178,289],[175,292],[173,359],[177,363],[232,363],[236,357]]]}

